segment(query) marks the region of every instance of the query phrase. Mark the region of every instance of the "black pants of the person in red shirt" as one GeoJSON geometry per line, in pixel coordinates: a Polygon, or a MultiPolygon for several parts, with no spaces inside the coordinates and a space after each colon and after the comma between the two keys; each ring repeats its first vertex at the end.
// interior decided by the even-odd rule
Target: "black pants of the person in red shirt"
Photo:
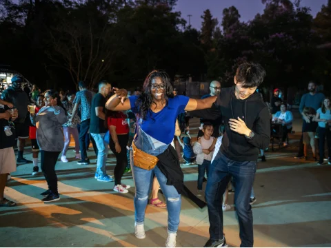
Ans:
{"type": "Polygon", "coordinates": [[[121,152],[116,152],[115,143],[112,141],[111,136],[109,138],[109,147],[116,156],[116,166],[114,169],[115,185],[120,185],[121,178],[124,174],[124,171],[126,170],[126,166],[128,165],[128,158],[126,157],[126,145],[128,145],[129,134],[117,134],[117,138],[119,140],[119,145],[121,146],[121,152]]]}

